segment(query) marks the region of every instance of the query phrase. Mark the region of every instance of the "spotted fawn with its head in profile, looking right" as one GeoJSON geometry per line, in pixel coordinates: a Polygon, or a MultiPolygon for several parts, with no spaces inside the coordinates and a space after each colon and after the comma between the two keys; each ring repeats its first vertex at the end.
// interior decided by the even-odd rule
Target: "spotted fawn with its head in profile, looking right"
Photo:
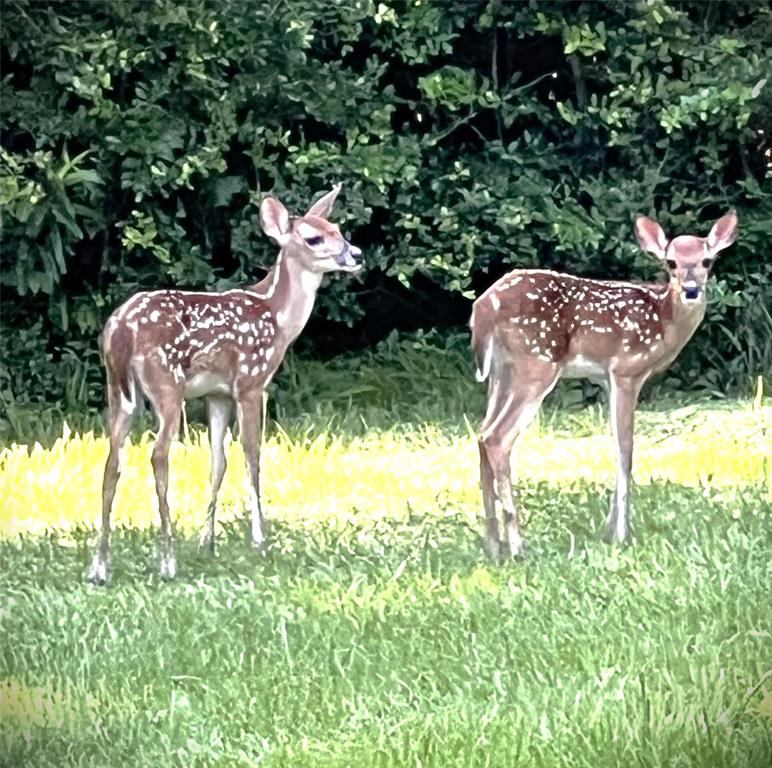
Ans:
{"type": "Polygon", "coordinates": [[[223,293],[162,290],[137,293],[110,316],[103,333],[107,370],[110,453],[102,487],[102,531],[89,579],[107,580],[110,509],[119,477],[119,451],[144,396],[158,418],[152,464],[161,517],[161,576],[177,566],[166,498],[169,446],[177,433],[183,401],[206,398],[211,446],[212,496],[201,544],[214,549],[217,492],[225,474],[225,431],[236,404],[249,475],[252,544],[265,546],[260,507],[260,442],[263,393],[289,345],[303,330],[325,272],[356,272],[359,248],[327,221],[336,185],[305,216],[291,220],[267,197],[260,224],[279,245],[279,257],[257,285],[223,293]]]}

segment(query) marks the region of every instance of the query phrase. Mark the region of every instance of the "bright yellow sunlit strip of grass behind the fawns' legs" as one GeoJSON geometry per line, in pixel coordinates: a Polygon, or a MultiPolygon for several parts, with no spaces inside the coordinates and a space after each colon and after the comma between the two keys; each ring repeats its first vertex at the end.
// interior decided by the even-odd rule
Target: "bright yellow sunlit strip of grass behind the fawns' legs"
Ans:
{"type": "MultiPolygon", "coordinates": [[[[635,451],[639,485],[770,487],[772,409],[708,408],[642,413],[635,451]]],[[[549,416],[537,421],[514,453],[514,476],[524,487],[556,489],[577,483],[609,486],[614,455],[603,420],[574,436],[549,416]],[[586,434],[589,432],[589,434],[586,434]]],[[[150,463],[152,436],[127,442],[122,454],[113,522],[155,525],[157,505],[150,463]]],[[[65,434],[50,449],[11,446],[0,451],[0,534],[43,533],[93,527],[99,519],[101,480],[108,446],[93,432],[65,434]]],[[[229,441],[228,470],[220,493],[220,522],[240,518],[247,476],[238,441],[229,441]]],[[[177,527],[203,524],[209,501],[209,446],[193,432],[171,451],[170,503],[177,527]]],[[[399,523],[419,510],[452,510],[474,523],[479,515],[478,455],[470,430],[396,426],[364,434],[273,431],[263,450],[263,496],[274,520],[299,526],[341,527],[369,521],[399,523]]]]}

